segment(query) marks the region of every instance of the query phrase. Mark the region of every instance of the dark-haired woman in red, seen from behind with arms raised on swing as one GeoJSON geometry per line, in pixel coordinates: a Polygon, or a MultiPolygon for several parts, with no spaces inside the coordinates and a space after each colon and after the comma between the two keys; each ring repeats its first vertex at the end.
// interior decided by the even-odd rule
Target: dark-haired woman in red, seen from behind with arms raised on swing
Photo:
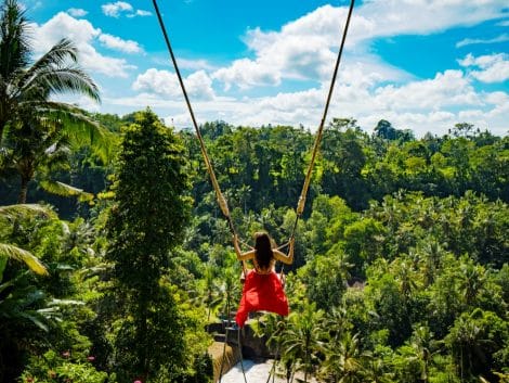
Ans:
{"type": "Polygon", "coordinates": [[[279,276],[275,271],[275,263],[279,260],[291,265],[293,261],[293,238],[288,243],[288,255],[273,246],[266,232],[255,233],[255,247],[243,253],[236,235],[233,244],[238,260],[252,259],[255,268],[245,276],[243,297],[238,306],[235,321],[239,327],[246,322],[249,312],[272,311],[282,316],[288,315],[288,299],[279,276]]]}

